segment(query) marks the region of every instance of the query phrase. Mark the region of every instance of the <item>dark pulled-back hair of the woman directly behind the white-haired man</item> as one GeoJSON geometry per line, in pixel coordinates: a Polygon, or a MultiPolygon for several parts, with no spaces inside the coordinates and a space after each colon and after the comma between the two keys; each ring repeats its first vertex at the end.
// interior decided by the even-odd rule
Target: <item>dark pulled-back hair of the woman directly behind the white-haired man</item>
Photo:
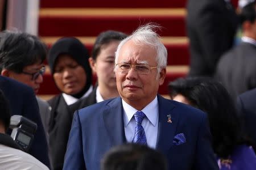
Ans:
{"type": "Polygon", "coordinates": [[[102,45],[108,44],[109,42],[111,42],[113,40],[122,41],[126,37],[127,37],[127,35],[125,33],[118,32],[118,31],[112,31],[112,30],[100,33],[100,35],[98,35],[98,37],[93,45],[92,58],[94,60],[96,60],[98,54],[100,53],[102,45]]]}

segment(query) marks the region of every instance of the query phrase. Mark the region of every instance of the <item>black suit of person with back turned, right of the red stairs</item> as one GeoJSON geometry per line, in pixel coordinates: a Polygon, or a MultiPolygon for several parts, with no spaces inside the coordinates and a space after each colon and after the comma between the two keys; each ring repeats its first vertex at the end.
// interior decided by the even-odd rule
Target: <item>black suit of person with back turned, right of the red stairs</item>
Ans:
{"type": "Polygon", "coordinates": [[[213,76],[221,54],[234,42],[238,18],[224,0],[188,0],[189,76],[213,76]]]}

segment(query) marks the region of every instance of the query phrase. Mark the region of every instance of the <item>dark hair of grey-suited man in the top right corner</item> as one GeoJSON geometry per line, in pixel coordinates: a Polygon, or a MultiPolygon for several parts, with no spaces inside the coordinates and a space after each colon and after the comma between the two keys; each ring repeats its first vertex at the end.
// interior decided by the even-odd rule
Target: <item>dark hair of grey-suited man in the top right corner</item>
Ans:
{"type": "Polygon", "coordinates": [[[255,18],[256,18],[255,5],[256,5],[256,2],[251,2],[242,8],[241,14],[240,14],[241,24],[243,24],[243,22],[245,22],[245,21],[254,23],[255,18]]]}

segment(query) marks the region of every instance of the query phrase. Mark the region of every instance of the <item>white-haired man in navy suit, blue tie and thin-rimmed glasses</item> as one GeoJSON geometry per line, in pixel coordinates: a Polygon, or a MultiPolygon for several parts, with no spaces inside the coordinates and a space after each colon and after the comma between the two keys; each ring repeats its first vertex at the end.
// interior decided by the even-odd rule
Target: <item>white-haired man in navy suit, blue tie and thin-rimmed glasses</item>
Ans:
{"type": "Polygon", "coordinates": [[[100,169],[111,147],[126,142],[162,152],[170,169],[218,169],[207,114],[158,95],[166,76],[167,50],[144,25],[115,54],[119,95],[75,112],[64,169],[100,169]]]}

